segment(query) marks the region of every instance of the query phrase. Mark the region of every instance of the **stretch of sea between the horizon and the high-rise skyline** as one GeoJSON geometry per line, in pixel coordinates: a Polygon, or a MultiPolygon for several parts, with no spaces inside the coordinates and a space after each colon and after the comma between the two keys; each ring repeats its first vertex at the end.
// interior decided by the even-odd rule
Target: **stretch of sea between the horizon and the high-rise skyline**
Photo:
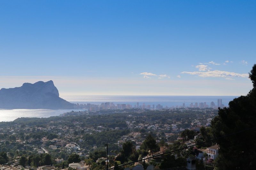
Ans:
{"type": "Polygon", "coordinates": [[[164,107],[176,107],[189,106],[190,103],[193,105],[197,102],[206,102],[210,105],[213,101],[215,105],[218,104],[218,99],[222,99],[222,104],[228,106],[229,101],[233,100],[238,96],[61,96],[63,99],[68,100],[71,103],[80,104],[101,104],[103,102],[113,102],[114,104],[130,104],[134,106],[137,102],[139,105],[145,103],[145,105],[163,105],[164,107]]]}

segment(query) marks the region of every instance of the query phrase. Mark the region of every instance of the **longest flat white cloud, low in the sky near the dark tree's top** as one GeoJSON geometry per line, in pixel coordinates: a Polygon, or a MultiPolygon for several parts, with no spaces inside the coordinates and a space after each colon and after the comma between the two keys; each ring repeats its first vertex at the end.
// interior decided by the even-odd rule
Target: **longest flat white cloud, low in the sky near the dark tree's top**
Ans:
{"type": "Polygon", "coordinates": [[[207,71],[207,72],[200,72],[200,71],[194,71],[194,72],[188,72],[183,71],[182,74],[190,74],[190,75],[198,75],[200,77],[243,77],[248,78],[248,74],[240,74],[240,73],[234,73],[234,72],[228,72],[228,71],[220,71],[220,70],[214,70],[214,71],[207,71]]]}

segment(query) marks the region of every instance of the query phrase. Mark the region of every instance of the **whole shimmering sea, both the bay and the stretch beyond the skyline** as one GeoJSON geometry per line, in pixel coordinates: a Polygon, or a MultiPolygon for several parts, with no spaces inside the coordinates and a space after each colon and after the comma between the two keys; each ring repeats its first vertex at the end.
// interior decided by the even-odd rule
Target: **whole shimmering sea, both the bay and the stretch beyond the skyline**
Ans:
{"type": "MultiPolygon", "coordinates": [[[[130,104],[134,107],[137,102],[140,105],[162,105],[163,107],[180,107],[185,103],[186,107],[192,103],[206,102],[210,106],[213,101],[218,105],[218,99],[222,100],[222,104],[228,107],[229,101],[238,96],[85,96],[85,95],[63,95],[61,98],[79,104],[101,104],[105,102],[113,102],[116,104],[130,104]]],[[[59,116],[70,111],[84,111],[86,109],[0,109],[0,122],[10,122],[20,117],[51,117],[59,116]]]]}

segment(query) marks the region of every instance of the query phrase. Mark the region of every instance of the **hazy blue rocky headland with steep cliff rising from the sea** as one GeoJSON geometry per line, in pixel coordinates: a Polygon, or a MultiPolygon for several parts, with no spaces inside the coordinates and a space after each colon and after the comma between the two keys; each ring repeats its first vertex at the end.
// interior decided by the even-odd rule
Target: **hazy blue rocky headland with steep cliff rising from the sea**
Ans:
{"type": "Polygon", "coordinates": [[[74,104],[59,97],[53,81],[24,83],[21,87],[0,90],[0,108],[73,109],[74,104]]]}

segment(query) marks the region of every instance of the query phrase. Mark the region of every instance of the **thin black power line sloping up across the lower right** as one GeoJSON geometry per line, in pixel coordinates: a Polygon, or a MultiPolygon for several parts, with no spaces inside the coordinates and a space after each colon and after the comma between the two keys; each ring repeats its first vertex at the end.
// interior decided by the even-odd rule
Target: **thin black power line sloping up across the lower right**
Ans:
{"type": "Polygon", "coordinates": [[[165,154],[168,154],[168,153],[180,151],[180,150],[183,150],[183,149],[190,148],[190,147],[192,147],[192,146],[204,144],[204,143],[207,143],[207,142],[211,142],[211,141],[214,141],[214,140],[223,138],[223,137],[228,137],[228,136],[235,135],[235,134],[237,134],[237,133],[241,133],[241,132],[244,132],[244,131],[247,131],[247,130],[252,130],[252,129],[255,129],[255,128],[256,128],[256,127],[254,127],[254,128],[249,128],[249,129],[245,129],[245,130],[241,130],[241,131],[238,131],[238,132],[235,132],[235,133],[231,133],[231,134],[228,134],[228,135],[225,135],[225,136],[222,136],[222,137],[217,137],[217,138],[215,138],[215,139],[211,139],[211,140],[208,140],[208,141],[205,141],[205,142],[201,142],[201,143],[199,143],[199,144],[193,144],[193,145],[191,145],[191,146],[187,146],[187,147],[184,147],[184,148],[176,149],[176,150],[173,150],[173,151],[170,151],[170,152],[161,153],[161,154],[159,154],[159,155],[151,156],[151,157],[148,157],[148,158],[145,158],[145,159],[140,159],[140,160],[137,160],[137,161],[134,161],[134,162],[130,162],[130,163],[127,163],[127,164],[119,165],[119,166],[112,167],[112,168],[108,168],[108,169],[114,169],[114,168],[118,168],[118,167],[121,167],[121,166],[134,164],[134,163],[136,163],[136,162],[140,162],[140,161],[143,161],[143,160],[146,160],[146,159],[155,158],[155,157],[158,157],[158,156],[161,156],[161,155],[165,155],[165,154]]]}

